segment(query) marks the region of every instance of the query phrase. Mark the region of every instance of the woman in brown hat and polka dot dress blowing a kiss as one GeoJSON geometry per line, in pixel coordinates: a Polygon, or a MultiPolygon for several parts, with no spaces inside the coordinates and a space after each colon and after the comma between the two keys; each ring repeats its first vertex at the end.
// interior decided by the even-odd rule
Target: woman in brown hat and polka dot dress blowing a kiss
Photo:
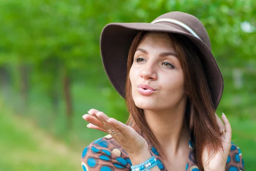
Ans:
{"type": "Polygon", "coordinates": [[[130,116],[126,124],[96,109],[83,116],[88,128],[110,133],[84,149],[84,171],[244,171],[227,117],[223,125],[215,114],[223,78],[196,17],[111,23],[100,45],[130,116]]]}

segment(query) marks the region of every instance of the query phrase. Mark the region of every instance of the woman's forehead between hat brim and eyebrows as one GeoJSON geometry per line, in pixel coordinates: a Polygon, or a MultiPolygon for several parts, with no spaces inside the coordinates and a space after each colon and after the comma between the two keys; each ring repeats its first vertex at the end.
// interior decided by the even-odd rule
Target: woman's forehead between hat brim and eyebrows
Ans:
{"type": "Polygon", "coordinates": [[[174,49],[175,45],[168,33],[148,32],[145,34],[138,47],[174,49]]]}

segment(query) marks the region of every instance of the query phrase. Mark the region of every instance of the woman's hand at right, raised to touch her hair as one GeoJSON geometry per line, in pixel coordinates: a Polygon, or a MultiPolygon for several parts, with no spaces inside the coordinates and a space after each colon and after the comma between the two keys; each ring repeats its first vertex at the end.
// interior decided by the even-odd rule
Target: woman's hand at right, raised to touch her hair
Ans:
{"type": "Polygon", "coordinates": [[[221,122],[221,119],[216,115],[218,127],[221,134],[222,139],[222,149],[220,149],[216,154],[213,151],[210,151],[208,154],[208,149],[204,149],[204,156],[203,156],[203,167],[204,171],[225,171],[227,157],[230,152],[231,147],[231,126],[230,122],[228,121],[227,117],[222,113],[221,119],[223,120],[224,124],[221,122]]]}

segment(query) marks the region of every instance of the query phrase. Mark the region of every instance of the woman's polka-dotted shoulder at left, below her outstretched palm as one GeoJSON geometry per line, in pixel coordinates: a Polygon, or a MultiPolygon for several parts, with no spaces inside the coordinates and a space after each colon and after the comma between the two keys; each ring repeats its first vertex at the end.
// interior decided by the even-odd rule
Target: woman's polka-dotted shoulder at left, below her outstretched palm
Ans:
{"type": "Polygon", "coordinates": [[[109,134],[85,147],[82,151],[81,162],[84,171],[116,171],[131,167],[128,154],[109,134]]]}

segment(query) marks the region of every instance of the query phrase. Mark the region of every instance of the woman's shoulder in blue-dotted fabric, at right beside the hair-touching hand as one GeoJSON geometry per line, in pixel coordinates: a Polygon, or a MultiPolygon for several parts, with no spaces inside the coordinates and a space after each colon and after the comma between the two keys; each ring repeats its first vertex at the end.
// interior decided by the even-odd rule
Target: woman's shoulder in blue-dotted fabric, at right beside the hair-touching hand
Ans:
{"type": "Polygon", "coordinates": [[[241,149],[231,142],[230,153],[227,158],[227,171],[244,171],[244,159],[242,157],[241,149]]]}

